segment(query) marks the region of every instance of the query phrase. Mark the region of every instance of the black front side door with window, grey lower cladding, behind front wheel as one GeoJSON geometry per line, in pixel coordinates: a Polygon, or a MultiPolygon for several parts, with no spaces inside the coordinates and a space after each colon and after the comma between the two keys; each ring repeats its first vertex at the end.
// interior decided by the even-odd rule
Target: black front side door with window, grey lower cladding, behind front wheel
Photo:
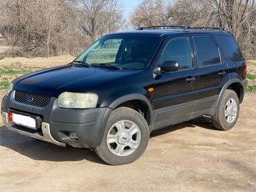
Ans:
{"type": "Polygon", "coordinates": [[[196,104],[195,85],[197,72],[194,69],[192,46],[189,36],[167,40],[157,66],[165,61],[177,61],[179,70],[155,75],[154,99],[156,109],[155,128],[161,128],[190,119],[196,104]]]}

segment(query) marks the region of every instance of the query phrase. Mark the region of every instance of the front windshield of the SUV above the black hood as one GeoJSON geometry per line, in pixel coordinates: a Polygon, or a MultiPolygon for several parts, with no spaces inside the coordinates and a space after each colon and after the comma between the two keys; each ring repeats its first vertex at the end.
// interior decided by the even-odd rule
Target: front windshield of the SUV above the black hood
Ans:
{"type": "Polygon", "coordinates": [[[75,61],[91,67],[143,69],[160,42],[161,37],[149,35],[109,35],[96,41],[75,61]]]}

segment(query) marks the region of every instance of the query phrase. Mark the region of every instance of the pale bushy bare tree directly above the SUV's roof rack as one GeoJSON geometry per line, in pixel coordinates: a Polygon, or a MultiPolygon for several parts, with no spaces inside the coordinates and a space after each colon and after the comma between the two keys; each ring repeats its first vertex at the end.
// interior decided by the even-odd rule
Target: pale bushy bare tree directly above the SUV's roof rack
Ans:
{"type": "MultiPolygon", "coordinates": [[[[144,0],[130,15],[131,24],[154,26],[210,23],[214,13],[208,0],[144,0]]],[[[214,21],[213,21],[214,22],[214,21]]]]}

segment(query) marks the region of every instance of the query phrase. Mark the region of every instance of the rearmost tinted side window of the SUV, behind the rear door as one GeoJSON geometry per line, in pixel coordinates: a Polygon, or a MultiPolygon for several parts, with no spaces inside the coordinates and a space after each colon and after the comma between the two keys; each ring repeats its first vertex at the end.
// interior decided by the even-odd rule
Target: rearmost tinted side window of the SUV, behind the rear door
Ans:
{"type": "Polygon", "coordinates": [[[217,36],[217,40],[227,61],[241,61],[244,59],[233,37],[219,35],[217,36]]]}

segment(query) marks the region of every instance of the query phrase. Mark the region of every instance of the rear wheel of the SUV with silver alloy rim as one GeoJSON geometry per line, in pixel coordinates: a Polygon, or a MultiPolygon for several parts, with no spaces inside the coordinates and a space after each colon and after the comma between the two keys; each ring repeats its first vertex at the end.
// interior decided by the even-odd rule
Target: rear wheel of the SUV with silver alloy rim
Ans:
{"type": "Polygon", "coordinates": [[[221,98],[221,102],[217,107],[217,113],[212,117],[212,124],[215,128],[219,130],[227,131],[227,130],[230,130],[233,126],[235,126],[238,116],[239,116],[239,99],[237,97],[237,93],[235,93],[234,90],[227,89],[225,90],[221,98]],[[228,104],[230,104],[230,106],[228,106],[228,104]],[[237,106],[236,113],[235,113],[235,105],[237,106]]]}

